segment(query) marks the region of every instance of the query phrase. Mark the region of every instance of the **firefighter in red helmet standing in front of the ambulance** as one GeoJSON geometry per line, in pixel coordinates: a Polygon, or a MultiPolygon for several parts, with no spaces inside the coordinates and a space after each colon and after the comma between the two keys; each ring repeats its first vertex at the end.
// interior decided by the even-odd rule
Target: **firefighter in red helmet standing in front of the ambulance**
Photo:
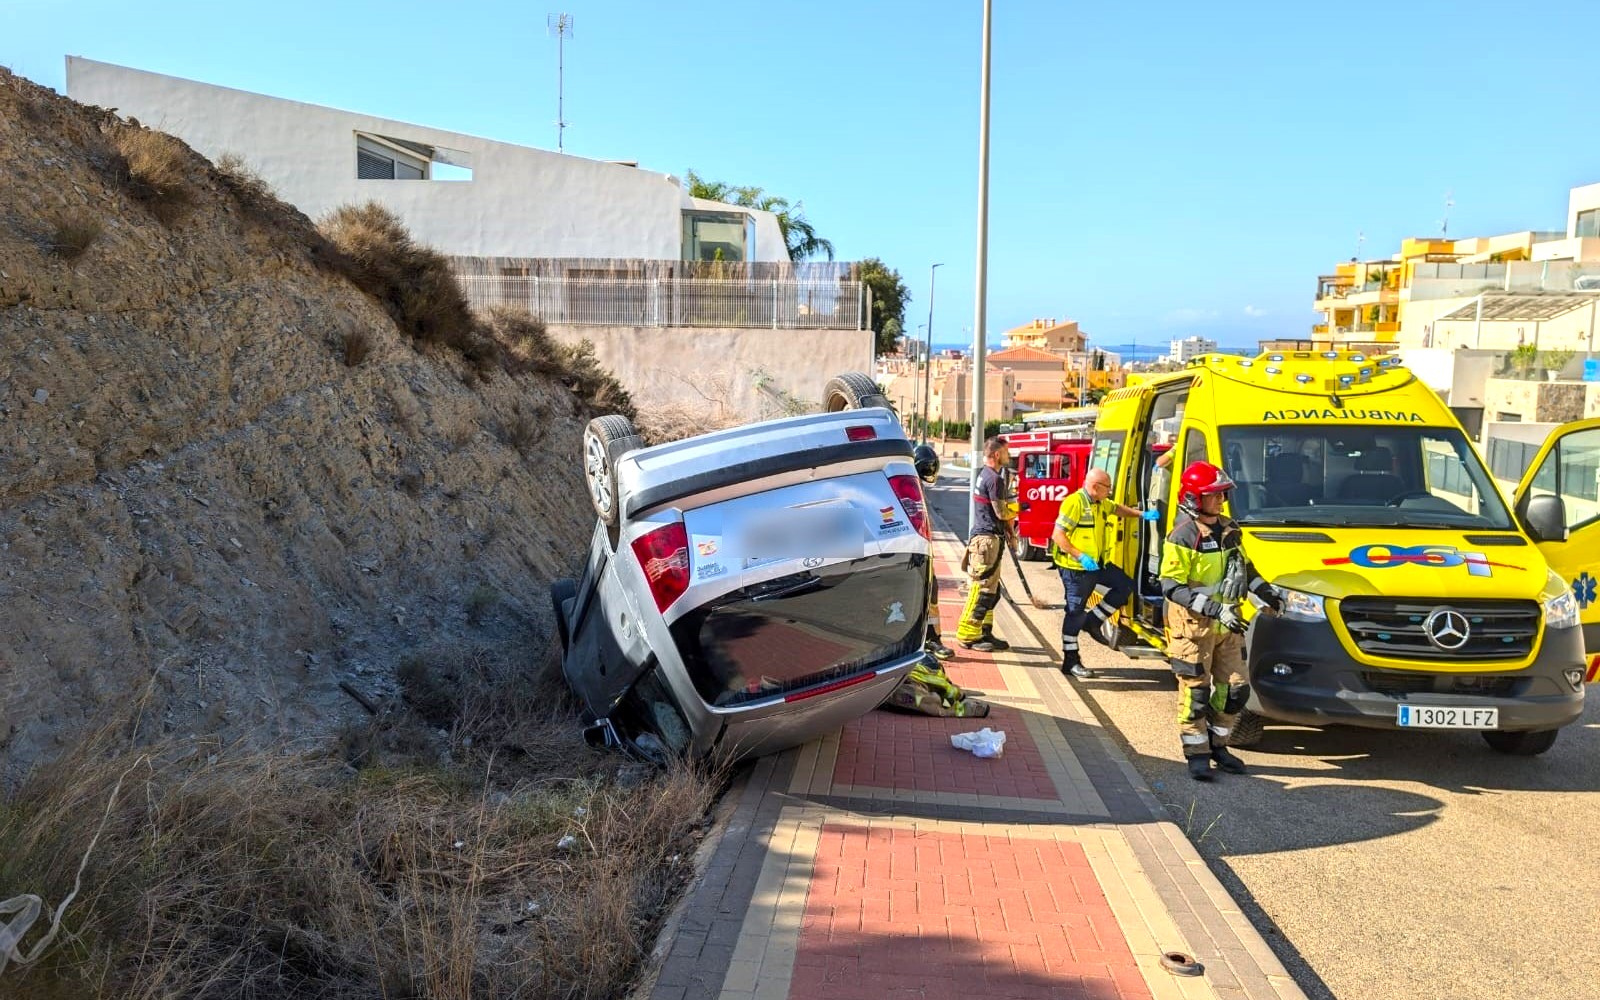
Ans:
{"type": "Polygon", "coordinates": [[[1195,781],[1211,781],[1213,763],[1229,774],[1245,773],[1245,762],[1227,749],[1234,720],[1250,699],[1240,605],[1253,594],[1259,606],[1282,608],[1277,590],[1245,558],[1238,523],[1222,515],[1232,488],[1234,480],[1210,462],[1184,469],[1182,515],[1162,547],[1166,658],[1178,675],[1179,741],[1195,781]]]}

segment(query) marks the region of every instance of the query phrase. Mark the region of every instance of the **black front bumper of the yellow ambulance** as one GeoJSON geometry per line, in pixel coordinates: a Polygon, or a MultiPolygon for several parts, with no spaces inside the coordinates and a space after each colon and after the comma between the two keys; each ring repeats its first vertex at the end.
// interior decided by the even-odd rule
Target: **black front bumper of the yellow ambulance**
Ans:
{"type": "Polygon", "coordinates": [[[1584,690],[1566,678],[1582,666],[1578,629],[1546,629],[1531,664],[1472,672],[1386,670],[1357,662],[1328,622],[1261,616],[1250,634],[1246,666],[1253,707],[1302,725],[1398,728],[1398,706],[1499,709],[1501,730],[1554,730],[1584,710],[1584,690]],[[1290,674],[1278,675],[1283,664],[1290,674]]]}

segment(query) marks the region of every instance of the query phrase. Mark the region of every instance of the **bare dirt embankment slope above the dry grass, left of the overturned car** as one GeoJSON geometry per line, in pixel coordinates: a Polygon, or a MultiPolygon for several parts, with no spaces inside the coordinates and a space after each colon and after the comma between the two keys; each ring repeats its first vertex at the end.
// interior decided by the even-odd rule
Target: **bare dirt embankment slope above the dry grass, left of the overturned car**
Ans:
{"type": "Polygon", "coordinates": [[[0,70],[0,786],[141,698],[282,744],[416,646],[533,656],[594,523],[586,400],[152,136],[0,70]]]}

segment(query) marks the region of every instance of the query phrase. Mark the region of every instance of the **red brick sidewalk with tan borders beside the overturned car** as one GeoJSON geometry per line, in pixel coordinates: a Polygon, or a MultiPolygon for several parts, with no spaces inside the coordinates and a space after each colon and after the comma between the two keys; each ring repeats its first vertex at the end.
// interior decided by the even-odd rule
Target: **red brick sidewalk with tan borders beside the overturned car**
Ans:
{"type": "Polygon", "coordinates": [[[958,549],[938,549],[946,670],[992,714],[869,712],[758,762],[651,1000],[1304,1000],[1054,650],[1006,606],[1011,651],[955,643],[958,549]],[[982,726],[1005,731],[998,758],[950,744],[982,726]],[[1205,978],[1163,971],[1165,950],[1218,941],[1205,978]]]}

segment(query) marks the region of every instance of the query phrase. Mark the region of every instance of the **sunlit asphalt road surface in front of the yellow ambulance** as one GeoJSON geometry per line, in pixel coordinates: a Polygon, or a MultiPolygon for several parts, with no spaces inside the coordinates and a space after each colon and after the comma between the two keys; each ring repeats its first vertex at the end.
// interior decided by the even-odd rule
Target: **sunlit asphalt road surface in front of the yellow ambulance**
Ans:
{"type": "MultiPolygon", "coordinates": [[[[931,490],[965,534],[965,490],[931,490]]],[[[1022,563],[1061,600],[1048,563],[1022,563]]],[[[1059,656],[1061,613],[1029,606],[1013,645],[1059,656]]],[[[1314,998],[1600,998],[1600,688],[1547,754],[1475,733],[1269,725],[1250,774],[1190,781],[1165,661],[1088,638],[1074,682],[1206,862],[1314,998]]]]}

